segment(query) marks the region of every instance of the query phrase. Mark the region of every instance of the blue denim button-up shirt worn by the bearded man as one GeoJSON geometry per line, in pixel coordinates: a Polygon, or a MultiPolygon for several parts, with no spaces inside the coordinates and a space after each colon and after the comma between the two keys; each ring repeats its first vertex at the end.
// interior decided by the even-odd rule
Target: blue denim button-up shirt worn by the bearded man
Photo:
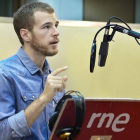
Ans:
{"type": "Polygon", "coordinates": [[[43,92],[50,73],[47,60],[42,75],[22,48],[0,61],[0,140],[49,139],[48,121],[64,92],[56,94],[31,128],[27,126],[24,110],[43,92]]]}

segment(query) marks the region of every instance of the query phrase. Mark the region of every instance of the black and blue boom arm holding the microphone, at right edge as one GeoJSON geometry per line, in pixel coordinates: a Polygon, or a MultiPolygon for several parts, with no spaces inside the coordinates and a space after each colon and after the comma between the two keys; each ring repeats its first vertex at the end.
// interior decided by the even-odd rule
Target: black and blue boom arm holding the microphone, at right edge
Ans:
{"type": "Polygon", "coordinates": [[[112,27],[113,29],[115,29],[116,31],[120,32],[120,33],[124,33],[124,34],[128,34],[134,38],[140,39],[140,33],[135,32],[133,30],[129,30],[120,26],[117,27],[112,27]]]}

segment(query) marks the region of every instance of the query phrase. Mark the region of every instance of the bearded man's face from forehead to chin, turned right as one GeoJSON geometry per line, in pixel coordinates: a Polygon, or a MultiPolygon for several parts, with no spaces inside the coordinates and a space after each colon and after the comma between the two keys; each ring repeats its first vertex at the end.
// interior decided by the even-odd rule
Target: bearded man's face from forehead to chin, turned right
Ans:
{"type": "Polygon", "coordinates": [[[53,56],[58,52],[59,24],[55,13],[37,11],[34,13],[35,24],[31,32],[31,47],[39,54],[53,56]]]}

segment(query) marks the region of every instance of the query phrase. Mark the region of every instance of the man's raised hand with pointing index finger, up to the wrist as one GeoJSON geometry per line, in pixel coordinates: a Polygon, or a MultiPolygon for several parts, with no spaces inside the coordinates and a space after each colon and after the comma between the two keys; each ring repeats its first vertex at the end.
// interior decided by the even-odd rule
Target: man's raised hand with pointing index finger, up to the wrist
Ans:
{"type": "Polygon", "coordinates": [[[46,102],[50,102],[57,92],[62,92],[66,88],[66,81],[68,77],[57,76],[65,70],[67,70],[67,66],[56,69],[53,73],[48,75],[46,85],[42,93],[46,102]]]}

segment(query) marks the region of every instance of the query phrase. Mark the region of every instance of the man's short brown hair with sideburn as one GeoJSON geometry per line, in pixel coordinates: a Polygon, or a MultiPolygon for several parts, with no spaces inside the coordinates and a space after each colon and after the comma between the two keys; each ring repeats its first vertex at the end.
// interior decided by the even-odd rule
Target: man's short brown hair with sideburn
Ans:
{"type": "Polygon", "coordinates": [[[34,13],[36,11],[53,13],[54,9],[47,3],[32,2],[23,5],[14,14],[14,20],[13,20],[14,29],[22,45],[24,44],[24,42],[20,36],[20,30],[24,28],[24,29],[28,29],[29,31],[32,31],[35,23],[34,13]]]}

